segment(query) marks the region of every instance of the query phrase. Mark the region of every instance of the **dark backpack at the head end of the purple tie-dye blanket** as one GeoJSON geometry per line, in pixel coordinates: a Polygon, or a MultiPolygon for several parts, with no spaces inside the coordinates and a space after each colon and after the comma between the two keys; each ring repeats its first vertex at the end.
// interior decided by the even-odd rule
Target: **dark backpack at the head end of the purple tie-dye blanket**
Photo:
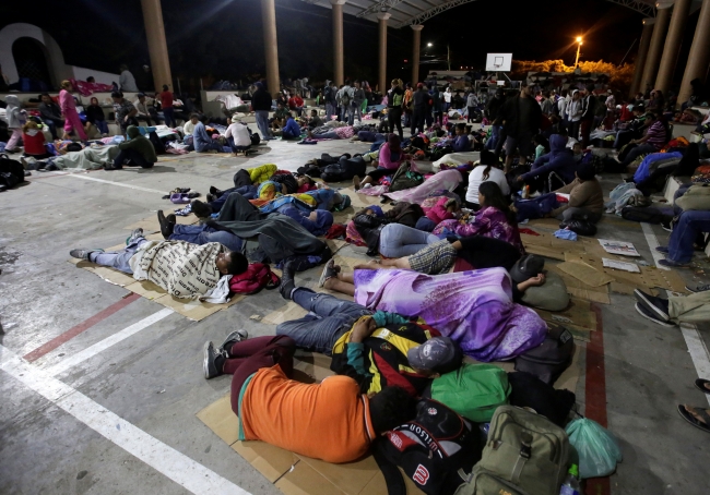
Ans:
{"type": "Polygon", "coordinates": [[[528,372],[553,385],[572,363],[575,339],[563,326],[549,327],[543,343],[516,358],[516,371],[528,372]]]}

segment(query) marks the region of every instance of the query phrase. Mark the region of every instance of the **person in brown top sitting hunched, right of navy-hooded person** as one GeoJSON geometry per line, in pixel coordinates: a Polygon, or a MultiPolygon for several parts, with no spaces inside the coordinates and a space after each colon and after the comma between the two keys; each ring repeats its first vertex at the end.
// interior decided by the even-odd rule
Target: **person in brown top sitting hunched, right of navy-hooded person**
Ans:
{"type": "Polygon", "coordinates": [[[556,193],[569,194],[569,202],[549,213],[563,221],[587,220],[596,224],[604,213],[604,192],[596,180],[594,166],[582,164],[575,172],[576,179],[556,193]]]}

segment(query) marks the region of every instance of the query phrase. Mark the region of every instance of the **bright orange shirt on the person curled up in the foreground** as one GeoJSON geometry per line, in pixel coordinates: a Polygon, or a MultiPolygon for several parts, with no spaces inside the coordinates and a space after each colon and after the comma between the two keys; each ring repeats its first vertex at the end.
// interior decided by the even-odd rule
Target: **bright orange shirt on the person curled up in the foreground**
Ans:
{"type": "Polygon", "coordinates": [[[279,365],[259,370],[241,399],[248,440],[263,440],[328,462],[364,456],[375,438],[369,400],[348,376],[320,384],[286,378],[279,365]]]}

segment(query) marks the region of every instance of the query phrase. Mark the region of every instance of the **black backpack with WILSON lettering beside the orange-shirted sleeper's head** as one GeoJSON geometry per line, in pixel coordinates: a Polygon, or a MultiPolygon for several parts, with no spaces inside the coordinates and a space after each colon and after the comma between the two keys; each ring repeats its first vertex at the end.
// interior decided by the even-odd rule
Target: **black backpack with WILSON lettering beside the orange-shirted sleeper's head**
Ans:
{"type": "Polygon", "coordinates": [[[372,454],[384,474],[390,495],[404,495],[399,466],[415,485],[429,495],[452,494],[481,459],[481,434],[472,423],[445,405],[422,399],[414,421],[404,423],[372,444],[372,454]]]}

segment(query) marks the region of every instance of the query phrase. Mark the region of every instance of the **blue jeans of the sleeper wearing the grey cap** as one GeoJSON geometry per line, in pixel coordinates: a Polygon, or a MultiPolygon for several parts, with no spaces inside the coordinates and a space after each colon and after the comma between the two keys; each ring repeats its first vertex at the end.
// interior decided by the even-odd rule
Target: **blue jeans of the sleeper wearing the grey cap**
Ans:
{"type": "Polygon", "coordinates": [[[313,292],[298,287],[292,294],[293,301],[308,311],[299,319],[284,322],[276,326],[276,335],[287,335],[296,346],[309,351],[331,355],[333,346],[353,324],[372,312],[352,301],[344,301],[330,294],[313,292]]]}

